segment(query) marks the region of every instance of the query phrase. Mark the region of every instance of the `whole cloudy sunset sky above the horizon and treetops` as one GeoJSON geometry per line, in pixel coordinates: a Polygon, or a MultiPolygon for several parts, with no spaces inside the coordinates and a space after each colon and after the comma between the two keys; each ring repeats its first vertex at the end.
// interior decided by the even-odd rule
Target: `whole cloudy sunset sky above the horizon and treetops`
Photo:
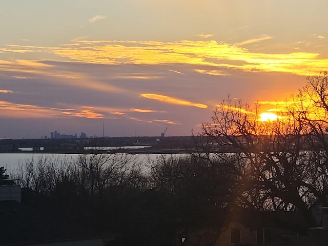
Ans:
{"type": "MultiPolygon", "coordinates": [[[[324,0],[0,1],[0,137],[191,135],[328,70],[324,0]]],[[[272,110],[270,111],[272,112],[272,110]]]]}

